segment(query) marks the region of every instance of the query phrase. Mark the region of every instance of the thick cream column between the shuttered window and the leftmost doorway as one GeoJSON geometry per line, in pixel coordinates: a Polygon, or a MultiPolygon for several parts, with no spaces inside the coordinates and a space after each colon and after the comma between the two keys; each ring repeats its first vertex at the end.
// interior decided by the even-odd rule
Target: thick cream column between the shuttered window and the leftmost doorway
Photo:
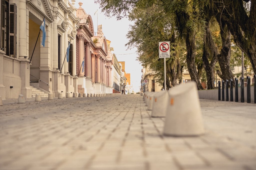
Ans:
{"type": "MultiPolygon", "coordinates": [[[[19,1],[19,57],[24,59],[24,56],[27,56],[27,7],[26,7],[26,0],[19,1]],[[24,22],[25,21],[25,22],[24,22]]],[[[39,29],[38,29],[39,31],[39,29]]],[[[37,35],[35,35],[37,36],[37,35]]],[[[40,38],[39,38],[40,40],[40,38]]]]}

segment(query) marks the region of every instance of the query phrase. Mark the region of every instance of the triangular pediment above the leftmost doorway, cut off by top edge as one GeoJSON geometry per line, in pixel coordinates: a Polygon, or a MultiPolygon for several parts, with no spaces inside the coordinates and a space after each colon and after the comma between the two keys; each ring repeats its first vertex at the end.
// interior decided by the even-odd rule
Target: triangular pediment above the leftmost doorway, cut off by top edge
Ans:
{"type": "Polygon", "coordinates": [[[53,15],[50,8],[49,0],[26,0],[26,3],[31,5],[42,16],[44,16],[49,22],[53,22],[53,15]]]}

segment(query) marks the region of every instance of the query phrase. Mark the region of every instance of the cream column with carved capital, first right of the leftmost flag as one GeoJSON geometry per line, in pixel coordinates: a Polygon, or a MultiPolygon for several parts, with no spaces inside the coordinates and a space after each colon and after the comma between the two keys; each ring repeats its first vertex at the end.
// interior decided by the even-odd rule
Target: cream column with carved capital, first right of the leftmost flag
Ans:
{"type": "Polygon", "coordinates": [[[59,12],[56,10],[53,12],[54,21],[52,23],[52,69],[56,70],[58,66],[58,29],[57,29],[57,18],[59,12]]]}

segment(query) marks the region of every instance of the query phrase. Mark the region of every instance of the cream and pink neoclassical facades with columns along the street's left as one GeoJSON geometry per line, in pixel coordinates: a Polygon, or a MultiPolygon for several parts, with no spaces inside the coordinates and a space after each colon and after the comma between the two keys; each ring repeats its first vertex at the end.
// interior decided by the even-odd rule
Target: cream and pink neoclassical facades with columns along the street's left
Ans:
{"type": "Polygon", "coordinates": [[[82,3],[78,9],[74,7],[75,0],[0,3],[2,99],[17,98],[19,94],[29,98],[31,85],[54,96],[59,93],[65,96],[66,92],[76,95],[112,92],[113,64],[106,39],[101,26],[94,36],[92,18],[81,8],[82,3]],[[43,33],[39,27],[44,19],[46,41],[42,46],[43,33]]]}

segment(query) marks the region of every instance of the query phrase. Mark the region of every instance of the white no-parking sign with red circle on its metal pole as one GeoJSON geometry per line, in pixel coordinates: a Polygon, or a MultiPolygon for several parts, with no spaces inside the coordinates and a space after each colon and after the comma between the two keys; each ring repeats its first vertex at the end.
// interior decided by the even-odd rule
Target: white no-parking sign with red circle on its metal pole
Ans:
{"type": "Polygon", "coordinates": [[[164,90],[166,90],[166,60],[170,58],[170,41],[159,42],[159,58],[164,58],[164,90]]]}

